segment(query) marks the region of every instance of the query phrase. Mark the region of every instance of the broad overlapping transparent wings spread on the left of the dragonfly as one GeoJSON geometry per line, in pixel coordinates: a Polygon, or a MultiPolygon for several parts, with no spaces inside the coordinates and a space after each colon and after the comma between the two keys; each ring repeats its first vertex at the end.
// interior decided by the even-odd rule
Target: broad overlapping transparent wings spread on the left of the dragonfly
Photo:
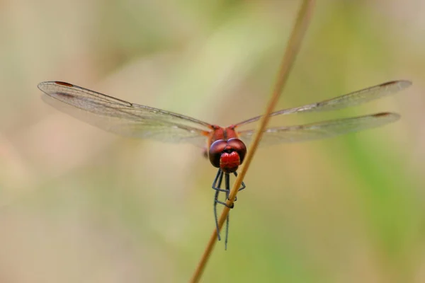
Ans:
{"type": "Polygon", "coordinates": [[[129,103],[60,81],[38,85],[42,99],[79,120],[127,137],[205,146],[210,124],[192,117],[129,103]]]}

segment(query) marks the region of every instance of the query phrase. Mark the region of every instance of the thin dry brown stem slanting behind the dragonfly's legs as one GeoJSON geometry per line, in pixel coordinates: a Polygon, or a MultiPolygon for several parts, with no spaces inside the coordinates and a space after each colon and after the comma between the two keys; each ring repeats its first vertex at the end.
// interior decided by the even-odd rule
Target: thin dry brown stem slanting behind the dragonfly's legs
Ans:
{"type": "MultiPolygon", "coordinates": [[[[293,32],[290,35],[290,39],[288,40],[288,45],[285,49],[285,54],[283,55],[283,59],[280,64],[280,69],[278,71],[278,78],[273,88],[271,99],[268,102],[266,112],[264,112],[263,117],[261,117],[261,120],[259,122],[259,128],[254,134],[254,141],[251,144],[251,148],[249,149],[248,154],[246,154],[244,164],[241,167],[241,172],[239,173],[236,180],[234,181],[234,185],[232,187],[232,190],[230,191],[229,200],[227,200],[226,202],[228,207],[224,207],[222,214],[220,216],[220,219],[218,221],[218,227],[220,231],[222,229],[223,224],[225,223],[227,214],[229,214],[229,211],[230,211],[229,207],[232,207],[234,198],[237,195],[237,191],[242,184],[242,180],[244,180],[246,171],[248,171],[249,164],[251,163],[254,153],[259,145],[264,129],[266,129],[267,122],[270,119],[270,114],[271,112],[273,112],[273,109],[275,108],[275,105],[278,102],[280,93],[282,93],[283,87],[285,86],[285,83],[288,80],[290,69],[293,67],[293,62],[295,61],[295,57],[297,56],[297,53],[300,50],[302,38],[304,37],[305,32],[307,30],[308,23],[310,22],[313,6],[314,6],[314,0],[302,1],[300,11],[298,12],[298,15],[297,15],[297,20],[295,21],[293,32]]],[[[205,265],[207,264],[208,259],[210,258],[212,248],[214,248],[216,241],[217,241],[217,231],[214,229],[214,231],[212,231],[210,241],[208,241],[208,245],[205,248],[202,258],[200,259],[200,262],[198,263],[198,267],[196,267],[196,270],[193,273],[193,277],[191,278],[190,282],[199,282],[200,277],[203,274],[203,270],[205,269],[205,265]]]]}

